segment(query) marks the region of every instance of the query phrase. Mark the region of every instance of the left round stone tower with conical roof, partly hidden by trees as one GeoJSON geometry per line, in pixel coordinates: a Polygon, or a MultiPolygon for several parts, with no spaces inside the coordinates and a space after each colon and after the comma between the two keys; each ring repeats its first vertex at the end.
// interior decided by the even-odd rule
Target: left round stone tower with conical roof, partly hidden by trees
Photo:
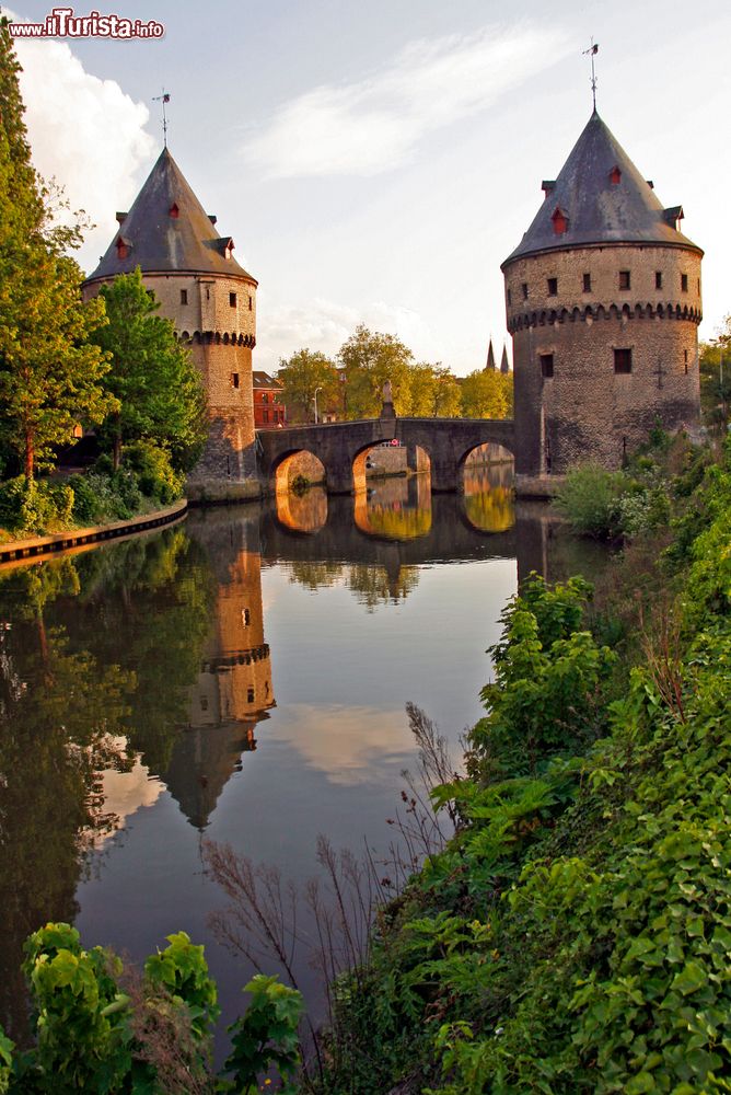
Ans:
{"type": "Polygon", "coordinates": [[[256,345],[257,281],[219,235],[216,217],[198,201],[163,149],[94,273],[86,296],[137,266],[172,320],[204,378],[210,430],[188,481],[188,497],[246,496],[255,489],[252,350],[256,345]]]}

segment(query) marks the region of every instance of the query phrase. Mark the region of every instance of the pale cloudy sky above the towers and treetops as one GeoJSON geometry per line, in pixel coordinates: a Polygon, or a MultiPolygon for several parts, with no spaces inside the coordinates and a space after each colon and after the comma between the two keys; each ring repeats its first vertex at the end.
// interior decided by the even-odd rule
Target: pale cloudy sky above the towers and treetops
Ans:
{"type": "Polygon", "coordinates": [[[600,114],[706,252],[701,338],[731,312],[720,0],[105,2],[164,33],[18,41],[34,162],[96,224],[90,273],[159,155],[164,87],[170,150],[259,281],[255,368],[359,323],[460,376],[490,338],[510,354],[500,263],[589,119],[592,37],[600,114]]]}

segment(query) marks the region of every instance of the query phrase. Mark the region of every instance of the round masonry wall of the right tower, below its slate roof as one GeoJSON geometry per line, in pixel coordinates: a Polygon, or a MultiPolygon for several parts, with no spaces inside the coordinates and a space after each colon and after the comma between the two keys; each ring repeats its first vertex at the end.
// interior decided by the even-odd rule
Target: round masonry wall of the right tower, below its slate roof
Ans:
{"type": "Polygon", "coordinates": [[[697,423],[697,252],[622,245],[524,257],[506,269],[506,304],[519,474],[560,473],[585,460],[617,468],[657,420],[668,429],[697,423]],[[619,288],[620,272],[629,273],[628,289],[619,288]],[[630,373],[615,372],[615,349],[631,351],[630,373]],[[542,370],[549,355],[553,377],[542,370]]]}

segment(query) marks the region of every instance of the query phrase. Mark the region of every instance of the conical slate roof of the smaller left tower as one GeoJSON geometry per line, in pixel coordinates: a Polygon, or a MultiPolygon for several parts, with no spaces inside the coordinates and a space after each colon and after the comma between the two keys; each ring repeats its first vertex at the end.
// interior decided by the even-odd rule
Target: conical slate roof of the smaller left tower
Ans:
{"type": "MultiPolygon", "coordinates": [[[[231,255],[233,241],[219,237],[166,148],[148,175],[119,229],[88,280],[147,273],[225,274],[248,277],[231,255]]],[[[251,278],[254,280],[254,278],[251,278]]]]}

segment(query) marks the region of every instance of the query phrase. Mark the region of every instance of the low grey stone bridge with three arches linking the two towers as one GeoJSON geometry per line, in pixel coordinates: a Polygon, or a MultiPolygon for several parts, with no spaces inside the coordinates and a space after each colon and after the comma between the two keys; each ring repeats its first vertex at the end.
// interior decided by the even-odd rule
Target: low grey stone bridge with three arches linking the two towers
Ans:
{"type": "Polygon", "coordinates": [[[415,466],[416,447],[431,462],[431,489],[457,491],[462,466],[469,453],[492,441],[515,454],[511,419],[490,418],[398,418],[382,415],[359,422],[323,423],[257,433],[257,463],[265,489],[274,491],[277,469],[295,452],[313,452],[323,463],[329,494],[351,494],[355,489],[356,459],[381,441],[396,438],[408,450],[415,466]]]}

